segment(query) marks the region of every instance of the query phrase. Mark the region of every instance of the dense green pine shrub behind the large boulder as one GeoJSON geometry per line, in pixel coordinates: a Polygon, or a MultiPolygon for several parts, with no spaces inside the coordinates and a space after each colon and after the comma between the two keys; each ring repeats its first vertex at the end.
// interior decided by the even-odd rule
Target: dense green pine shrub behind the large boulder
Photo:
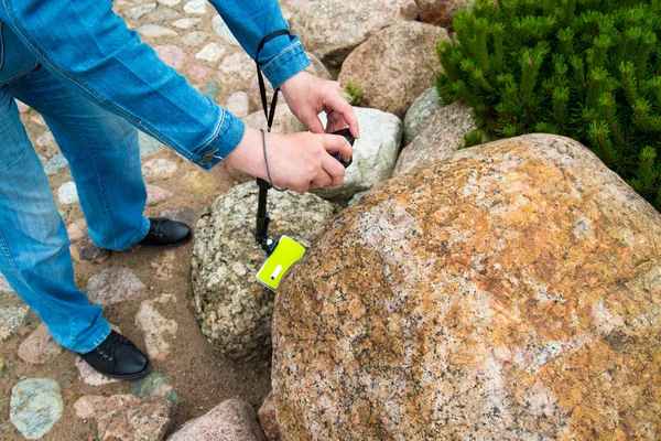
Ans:
{"type": "Polygon", "coordinates": [[[477,0],[454,29],[445,103],[491,139],[571,137],[661,209],[661,0],[477,0]]]}

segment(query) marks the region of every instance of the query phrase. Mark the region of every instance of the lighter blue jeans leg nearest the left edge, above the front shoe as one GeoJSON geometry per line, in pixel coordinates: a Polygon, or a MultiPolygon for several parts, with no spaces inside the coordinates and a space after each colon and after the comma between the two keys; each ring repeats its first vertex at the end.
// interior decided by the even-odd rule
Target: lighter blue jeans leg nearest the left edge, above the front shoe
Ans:
{"type": "Polygon", "coordinates": [[[0,271],[53,338],[89,352],[110,332],[76,288],[69,241],[51,186],[7,86],[0,86],[0,271]]]}

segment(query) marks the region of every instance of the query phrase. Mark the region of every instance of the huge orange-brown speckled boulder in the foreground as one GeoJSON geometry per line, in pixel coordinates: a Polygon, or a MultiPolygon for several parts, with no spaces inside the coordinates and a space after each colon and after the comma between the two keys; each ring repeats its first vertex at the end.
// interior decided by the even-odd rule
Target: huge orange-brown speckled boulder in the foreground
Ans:
{"type": "Polygon", "coordinates": [[[567,138],[395,178],[279,289],[282,434],[655,439],[660,247],[661,215],[567,138]]]}

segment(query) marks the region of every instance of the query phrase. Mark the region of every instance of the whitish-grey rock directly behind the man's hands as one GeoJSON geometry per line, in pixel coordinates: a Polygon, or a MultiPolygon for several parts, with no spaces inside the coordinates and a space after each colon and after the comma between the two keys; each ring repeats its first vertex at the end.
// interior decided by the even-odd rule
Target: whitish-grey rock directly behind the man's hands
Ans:
{"type": "MultiPolygon", "coordinates": [[[[354,162],[338,186],[314,190],[322,197],[350,198],[389,179],[402,141],[402,121],[392,114],[355,107],[360,139],[354,143],[354,162]]],[[[324,126],[325,114],[319,115],[324,126]]]]}

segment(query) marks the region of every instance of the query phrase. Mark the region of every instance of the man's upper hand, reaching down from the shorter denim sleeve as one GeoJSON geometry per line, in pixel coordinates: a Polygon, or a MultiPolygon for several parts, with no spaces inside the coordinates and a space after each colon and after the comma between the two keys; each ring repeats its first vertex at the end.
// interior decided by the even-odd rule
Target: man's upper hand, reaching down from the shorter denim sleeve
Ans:
{"type": "Polygon", "coordinates": [[[337,82],[322,79],[307,72],[301,72],[280,87],[292,112],[314,133],[323,133],[324,126],[318,118],[325,111],[330,133],[349,126],[354,138],[360,138],[358,120],[351,106],[344,99],[337,82]]]}

